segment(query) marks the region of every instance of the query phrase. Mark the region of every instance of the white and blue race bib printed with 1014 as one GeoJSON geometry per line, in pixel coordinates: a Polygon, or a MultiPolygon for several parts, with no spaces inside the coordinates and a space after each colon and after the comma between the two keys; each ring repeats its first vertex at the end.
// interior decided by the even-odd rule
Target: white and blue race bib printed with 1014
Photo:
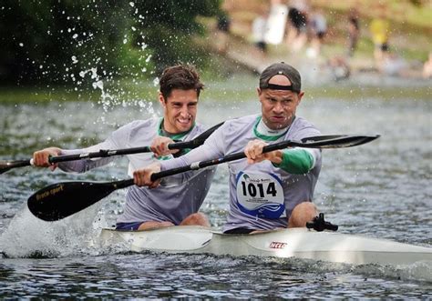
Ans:
{"type": "Polygon", "coordinates": [[[237,206],[250,216],[286,217],[281,179],[274,174],[243,173],[237,175],[237,206]]]}

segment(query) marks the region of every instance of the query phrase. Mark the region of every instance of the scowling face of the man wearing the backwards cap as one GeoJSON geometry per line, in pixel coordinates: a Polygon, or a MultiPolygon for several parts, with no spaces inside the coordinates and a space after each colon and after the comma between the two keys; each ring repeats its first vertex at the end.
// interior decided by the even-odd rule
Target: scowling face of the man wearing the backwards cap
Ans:
{"type": "MultiPolygon", "coordinates": [[[[269,84],[291,85],[291,82],[284,75],[274,75],[269,84]]],[[[262,105],[262,121],[273,130],[291,125],[303,94],[303,92],[297,94],[289,90],[258,88],[258,97],[262,105]]]]}

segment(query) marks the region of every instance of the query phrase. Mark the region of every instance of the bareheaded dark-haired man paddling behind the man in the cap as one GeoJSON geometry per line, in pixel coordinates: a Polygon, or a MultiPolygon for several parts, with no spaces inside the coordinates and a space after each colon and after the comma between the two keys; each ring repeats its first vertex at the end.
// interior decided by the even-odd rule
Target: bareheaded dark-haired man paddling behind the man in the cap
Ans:
{"type": "MultiPolygon", "coordinates": [[[[104,142],[84,149],[65,150],[49,147],[34,154],[36,166],[50,166],[49,156],[97,152],[100,149],[120,149],[151,145],[154,154],[129,155],[129,176],[138,168],[159,160],[170,159],[175,150],[168,151],[173,140],[188,141],[204,132],[195,124],[198,99],[203,88],[200,76],[190,65],[175,65],[164,70],[159,79],[159,102],[163,118],[137,120],[118,128],[104,142]]],[[[67,172],[86,172],[107,165],[112,157],[64,162],[59,167],[67,172]]],[[[210,226],[206,216],[199,213],[214,175],[214,168],[190,172],[189,181],[170,176],[156,189],[131,186],[126,196],[124,212],[118,217],[117,228],[143,230],[160,226],[210,226]]]]}

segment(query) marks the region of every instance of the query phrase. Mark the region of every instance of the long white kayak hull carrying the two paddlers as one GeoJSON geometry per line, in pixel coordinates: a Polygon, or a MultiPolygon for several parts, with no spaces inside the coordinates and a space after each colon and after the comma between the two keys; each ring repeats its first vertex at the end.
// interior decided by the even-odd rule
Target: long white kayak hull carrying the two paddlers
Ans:
{"type": "Polygon", "coordinates": [[[201,226],[172,226],[145,231],[103,229],[101,247],[126,244],[132,252],[298,257],[347,264],[407,265],[432,262],[432,247],[306,228],[252,235],[224,235],[201,226]]]}

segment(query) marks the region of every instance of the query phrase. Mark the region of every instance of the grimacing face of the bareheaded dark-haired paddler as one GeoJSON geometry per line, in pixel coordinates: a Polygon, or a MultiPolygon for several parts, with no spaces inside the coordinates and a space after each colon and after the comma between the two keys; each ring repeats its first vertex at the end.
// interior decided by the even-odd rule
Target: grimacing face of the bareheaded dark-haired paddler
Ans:
{"type": "Polygon", "coordinates": [[[197,115],[198,94],[194,89],[174,89],[165,99],[159,93],[159,101],[163,106],[163,127],[172,134],[190,130],[197,115]]]}

